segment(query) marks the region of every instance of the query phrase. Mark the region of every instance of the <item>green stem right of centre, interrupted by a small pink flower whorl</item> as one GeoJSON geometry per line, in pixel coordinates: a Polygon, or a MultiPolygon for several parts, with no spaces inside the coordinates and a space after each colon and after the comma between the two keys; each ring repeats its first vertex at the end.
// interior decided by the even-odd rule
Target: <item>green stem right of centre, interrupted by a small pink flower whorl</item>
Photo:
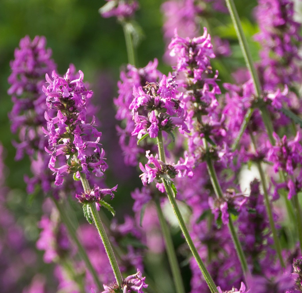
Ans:
{"type": "MultiPolygon", "coordinates": [[[[206,150],[208,151],[208,145],[207,145],[207,141],[205,139],[203,140],[203,143],[204,143],[204,146],[205,146],[206,150]]],[[[215,194],[218,198],[222,199],[223,198],[223,191],[222,191],[220,183],[218,181],[218,177],[217,177],[213,162],[212,162],[210,156],[208,156],[208,155],[206,155],[206,163],[207,163],[208,174],[210,176],[210,180],[212,182],[212,186],[214,188],[215,194]]],[[[240,260],[241,268],[243,270],[243,273],[245,275],[245,279],[247,281],[248,276],[250,275],[250,271],[249,271],[249,267],[248,267],[248,264],[247,264],[247,261],[246,261],[246,257],[243,253],[243,249],[242,249],[241,243],[239,241],[239,238],[237,236],[237,233],[236,233],[236,230],[234,228],[233,221],[232,221],[231,217],[229,217],[228,226],[229,226],[229,230],[230,230],[230,233],[231,233],[231,236],[232,236],[232,239],[233,239],[233,243],[235,245],[235,249],[236,249],[238,258],[240,260]]]]}

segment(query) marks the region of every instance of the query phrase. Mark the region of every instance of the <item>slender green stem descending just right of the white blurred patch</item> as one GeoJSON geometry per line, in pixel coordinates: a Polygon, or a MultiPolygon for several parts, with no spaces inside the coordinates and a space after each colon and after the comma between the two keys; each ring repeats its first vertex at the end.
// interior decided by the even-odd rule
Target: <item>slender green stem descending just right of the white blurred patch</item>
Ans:
{"type": "Polygon", "coordinates": [[[281,244],[280,244],[280,241],[279,241],[279,238],[278,238],[277,229],[276,229],[275,221],[274,221],[274,218],[273,218],[273,212],[271,210],[271,204],[270,204],[270,201],[269,201],[269,198],[268,198],[265,176],[264,176],[264,172],[263,172],[263,169],[262,169],[262,166],[261,166],[260,162],[257,162],[257,167],[258,167],[258,170],[259,170],[260,179],[261,179],[261,183],[262,183],[262,187],[263,187],[265,206],[266,206],[266,211],[268,213],[268,220],[269,220],[269,224],[271,226],[271,232],[273,233],[275,248],[276,248],[281,266],[285,267],[284,260],[283,260],[283,257],[282,257],[282,252],[281,252],[281,244]]]}

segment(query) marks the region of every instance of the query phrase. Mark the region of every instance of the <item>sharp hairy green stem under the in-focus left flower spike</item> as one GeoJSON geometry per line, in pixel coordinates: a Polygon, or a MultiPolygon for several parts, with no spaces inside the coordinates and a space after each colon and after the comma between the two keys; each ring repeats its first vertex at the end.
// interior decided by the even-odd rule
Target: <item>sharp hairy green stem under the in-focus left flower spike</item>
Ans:
{"type": "MultiPolygon", "coordinates": [[[[82,182],[84,191],[88,192],[90,190],[90,187],[89,187],[88,180],[86,179],[86,174],[80,172],[80,178],[81,178],[81,182],[82,182]]],[[[122,274],[120,273],[120,269],[118,267],[113,249],[111,247],[111,244],[110,244],[110,241],[109,241],[108,236],[106,234],[106,231],[104,229],[104,226],[101,222],[101,218],[100,218],[100,215],[98,214],[95,203],[90,203],[89,208],[91,210],[91,214],[92,214],[92,218],[94,220],[95,226],[98,229],[98,234],[100,235],[101,240],[104,244],[105,251],[106,251],[106,254],[108,256],[109,262],[111,264],[111,267],[112,267],[117,285],[119,287],[121,287],[121,285],[123,283],[123,277],[122,277],[122,274]]]]}

